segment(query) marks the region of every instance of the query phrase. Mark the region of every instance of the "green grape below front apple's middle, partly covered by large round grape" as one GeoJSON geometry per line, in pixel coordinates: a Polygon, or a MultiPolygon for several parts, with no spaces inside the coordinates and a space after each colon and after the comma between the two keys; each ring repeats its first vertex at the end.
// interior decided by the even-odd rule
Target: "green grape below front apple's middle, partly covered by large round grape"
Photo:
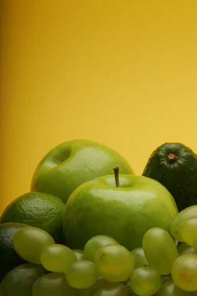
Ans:
{"type": "Polygon", "coordinates": [[[89,239],[84,247],[84,258],[95,263],[95,255],[103,246],[119,244],[115,239],[106,235],[97,235],[89,239]]]}

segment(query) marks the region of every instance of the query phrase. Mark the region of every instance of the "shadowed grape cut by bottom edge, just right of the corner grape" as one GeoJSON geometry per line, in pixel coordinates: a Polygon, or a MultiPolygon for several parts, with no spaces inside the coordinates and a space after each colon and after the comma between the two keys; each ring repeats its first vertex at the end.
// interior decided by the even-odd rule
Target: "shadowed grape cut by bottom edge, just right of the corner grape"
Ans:
{"type": "Polygon", "coordinates": [[[76,296],[66,283],[64,273],[52,272],[40,277],[33,285],[32,296],[76,296]]]}

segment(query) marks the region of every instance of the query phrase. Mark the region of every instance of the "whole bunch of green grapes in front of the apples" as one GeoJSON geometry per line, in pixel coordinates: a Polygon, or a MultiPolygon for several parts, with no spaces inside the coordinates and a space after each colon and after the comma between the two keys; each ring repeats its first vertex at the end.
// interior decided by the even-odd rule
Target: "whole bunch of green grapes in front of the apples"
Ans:
{"type": "Polygon", "coordinates": [[[197,206],[168,231],[149,229],[133,250],[105,235],[72,250],[31,226],[13,246],[27,263],[8,272],[0,296],[197,296],[197,206]]]}

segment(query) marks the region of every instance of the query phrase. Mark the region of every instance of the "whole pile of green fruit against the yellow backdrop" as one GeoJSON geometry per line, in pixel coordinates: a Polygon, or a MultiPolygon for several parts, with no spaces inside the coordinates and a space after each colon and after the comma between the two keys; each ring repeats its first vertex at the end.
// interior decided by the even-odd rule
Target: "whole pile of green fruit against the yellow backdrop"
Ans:
{"type": "Polygon", "coordinates": [[[180,143],[142,176],[92,141],[53,148],[0,217],[0,296],[197,296],[196,184],[180,143]]]}

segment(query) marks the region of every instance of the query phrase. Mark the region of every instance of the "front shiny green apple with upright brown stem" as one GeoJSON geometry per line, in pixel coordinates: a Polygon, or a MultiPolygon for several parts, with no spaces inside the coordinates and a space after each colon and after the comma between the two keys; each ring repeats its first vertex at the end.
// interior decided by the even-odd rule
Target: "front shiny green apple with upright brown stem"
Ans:
{"type": "Polygon", "coordinates": [[[65,242],[83,250],[91,237],[107,235],[131,251],[142,246],[152,227],[169,233],[177,214],[172,195],[159,182],[123,174],[118,181],[117,173],[116,179],[103,176],[80,185],[69,197],[63,214],[65,242]]]}

